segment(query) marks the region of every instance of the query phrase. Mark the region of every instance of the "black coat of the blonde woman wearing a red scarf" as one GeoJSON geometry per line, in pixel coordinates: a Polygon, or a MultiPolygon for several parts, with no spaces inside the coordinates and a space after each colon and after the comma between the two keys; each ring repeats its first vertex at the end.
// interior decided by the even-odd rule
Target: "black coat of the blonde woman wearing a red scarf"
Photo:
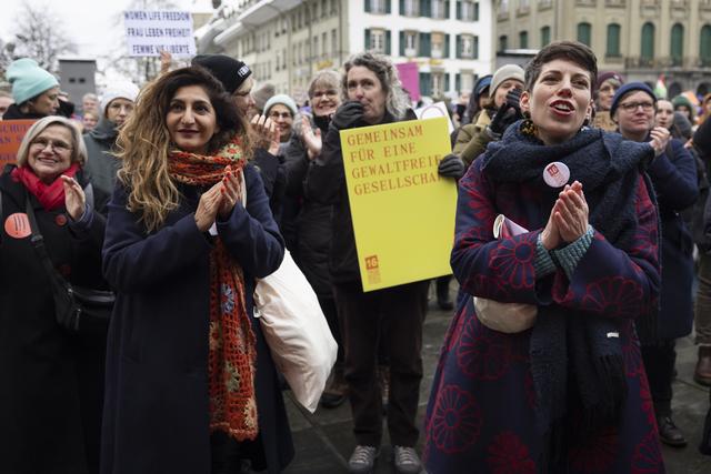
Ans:
{"type": "MultiPolygon", "coordinates": [[[[104,221],[91,210],[88,225],[72,222],[63,206],[44,211],[10,169],[0,177],[0,473],[83,474],[87,456],[98,463],[103,386],[102,364],[91,370],[84,362],[100,361],[102,351],[57,324],[49,276],[30,238],[10,236],[4,224],[24,215],[29,195],[54,266],[74,284],[106,288],[104,221]]],[[[76,178],[83,183],[81,172],[76,178]]]]}

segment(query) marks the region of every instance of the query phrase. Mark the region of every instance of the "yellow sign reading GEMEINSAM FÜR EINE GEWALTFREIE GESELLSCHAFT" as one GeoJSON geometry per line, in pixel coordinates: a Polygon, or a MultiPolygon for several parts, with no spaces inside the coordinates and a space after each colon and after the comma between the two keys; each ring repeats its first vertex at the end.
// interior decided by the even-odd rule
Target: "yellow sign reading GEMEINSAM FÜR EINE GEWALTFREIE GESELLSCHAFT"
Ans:
{"type": "Polygon", "coordinates": [[[457,185],[437,172],[451,151],[447,119],[340,137],[363,290],[451,273],[457,185]]]}

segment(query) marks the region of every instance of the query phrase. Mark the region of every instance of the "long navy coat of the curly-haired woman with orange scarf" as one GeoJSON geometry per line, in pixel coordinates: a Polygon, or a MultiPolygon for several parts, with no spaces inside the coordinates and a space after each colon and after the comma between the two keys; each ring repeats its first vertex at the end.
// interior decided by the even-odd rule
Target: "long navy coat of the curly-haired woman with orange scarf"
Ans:
{"type": "MultiPolygon", "coordinates": [[[[244,271],[246,301],[253,315],[254,279],[276,271],[284,244],[258,172],[244,168],[247,209],[236,205],[217,229],[244,271]]],[[[106,278],[118,292],[109,329],[103,422],[103,474],[209,473],[208,395],[211,239],[198,230],[200,193],[181,186],[179,209],[147,235],[126,209],[117,185],[109,203],[103,248],[106,278]]],[[[257,410],[260,436],[250,444],[252,465],[282,470],[293,445],[277,372],[259,322],[257,410]],[[257,450],[253,450],[257,447],[257,450]]]]}

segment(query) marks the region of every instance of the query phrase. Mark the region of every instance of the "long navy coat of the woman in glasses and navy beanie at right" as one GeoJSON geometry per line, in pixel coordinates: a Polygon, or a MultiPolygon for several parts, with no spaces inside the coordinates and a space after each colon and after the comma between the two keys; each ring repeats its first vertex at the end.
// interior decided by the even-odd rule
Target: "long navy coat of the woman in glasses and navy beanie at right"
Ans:
{"type": "MultiPolygon", "coordinates": [[[[652,161],[652,179],[662,228],[662,288],[658,339],[670,340],[691,332],[693,304],[693,240],[680,212],[699,196],[697,163],[679,140],[671,140],[672,152],[652,161]]],[[[668,149],[669,150],[669,149],[668,149]]],[[[642,341],[648,343],[652,341],[642,341]]]]}

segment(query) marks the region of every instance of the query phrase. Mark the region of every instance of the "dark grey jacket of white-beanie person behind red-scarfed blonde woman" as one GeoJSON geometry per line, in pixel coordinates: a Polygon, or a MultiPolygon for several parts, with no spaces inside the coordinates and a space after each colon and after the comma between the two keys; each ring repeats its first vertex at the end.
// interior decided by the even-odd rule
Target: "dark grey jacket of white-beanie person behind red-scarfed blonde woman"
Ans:
{"type": "Polygon", "coordinates": [[[107,215],[107,204],[113,193],[116,185],[116,173],[119,171],[121,162],[113,157],[116,139],[119,137],[117,124],[102,117],[97,127],[84,134],[84,145],[87,145],[87,170],[88,178],[94,190],[104,196],[97,200],[96,209],[107,215]]]}

